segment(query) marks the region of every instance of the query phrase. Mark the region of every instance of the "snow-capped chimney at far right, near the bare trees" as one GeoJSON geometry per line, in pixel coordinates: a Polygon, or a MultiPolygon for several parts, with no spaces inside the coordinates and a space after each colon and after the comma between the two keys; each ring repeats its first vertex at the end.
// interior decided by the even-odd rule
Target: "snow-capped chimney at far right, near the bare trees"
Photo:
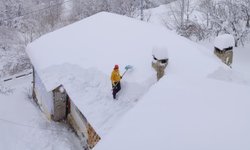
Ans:
{"type": "Polygon", "coordinates": [[[229,67],[232,67],[234,43],[234,37],[230,34],[220,35],[214,41],[214,54],[229,67]]]}

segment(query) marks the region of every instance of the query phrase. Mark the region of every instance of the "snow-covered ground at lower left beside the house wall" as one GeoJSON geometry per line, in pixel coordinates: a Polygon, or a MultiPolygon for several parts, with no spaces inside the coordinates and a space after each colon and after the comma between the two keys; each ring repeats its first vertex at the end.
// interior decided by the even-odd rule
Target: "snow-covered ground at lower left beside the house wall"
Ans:
{"type": "Polygon", "coordinates": [[[0,94],[1,150],[73,150],[82,149],[79,139],[66,124],[49,121],[26,97],[32,75],[3,85],[14,91],[0,94]]]}

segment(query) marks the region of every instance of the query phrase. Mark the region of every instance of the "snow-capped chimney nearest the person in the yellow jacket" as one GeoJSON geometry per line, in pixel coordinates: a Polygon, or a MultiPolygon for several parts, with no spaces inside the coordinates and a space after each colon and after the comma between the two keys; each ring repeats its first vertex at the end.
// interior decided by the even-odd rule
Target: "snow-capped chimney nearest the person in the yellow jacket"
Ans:
{"type": "Polygon", "coordinates": [[[168,50],[165,47],[153,47],[152,55],[152,67],[157,72],[157,80],[160,80],[160,78],[163,77],[164,70],[168,65],[168,50]]]}

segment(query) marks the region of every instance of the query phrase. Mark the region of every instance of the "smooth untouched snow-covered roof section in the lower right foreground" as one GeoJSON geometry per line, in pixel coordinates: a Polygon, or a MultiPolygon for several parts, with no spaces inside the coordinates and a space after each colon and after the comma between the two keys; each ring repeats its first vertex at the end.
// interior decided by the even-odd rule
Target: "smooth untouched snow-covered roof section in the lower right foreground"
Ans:
{"type": "Polygon", "coordinates": [[[164,76],[94,150],[248,150],[249,91],[208,78],[164,76]]]}

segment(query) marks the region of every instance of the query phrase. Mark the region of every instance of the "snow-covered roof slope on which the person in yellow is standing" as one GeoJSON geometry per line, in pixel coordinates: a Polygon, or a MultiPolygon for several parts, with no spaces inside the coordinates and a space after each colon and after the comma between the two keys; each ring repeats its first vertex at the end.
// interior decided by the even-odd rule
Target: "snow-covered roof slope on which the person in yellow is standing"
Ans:
{"type": "Polygon", "coordinates": [[[102,137],[156,82],[155,46],[168,49],[166,74],[207,77],[224,65],[164,27],[106,12],[44,35],[26,51],[46,90],[62,84],[102,137]],[[112,99],[110,81],[115,64],[121,74],[133,66],[122,78],[118,101],[112,99]]]}

